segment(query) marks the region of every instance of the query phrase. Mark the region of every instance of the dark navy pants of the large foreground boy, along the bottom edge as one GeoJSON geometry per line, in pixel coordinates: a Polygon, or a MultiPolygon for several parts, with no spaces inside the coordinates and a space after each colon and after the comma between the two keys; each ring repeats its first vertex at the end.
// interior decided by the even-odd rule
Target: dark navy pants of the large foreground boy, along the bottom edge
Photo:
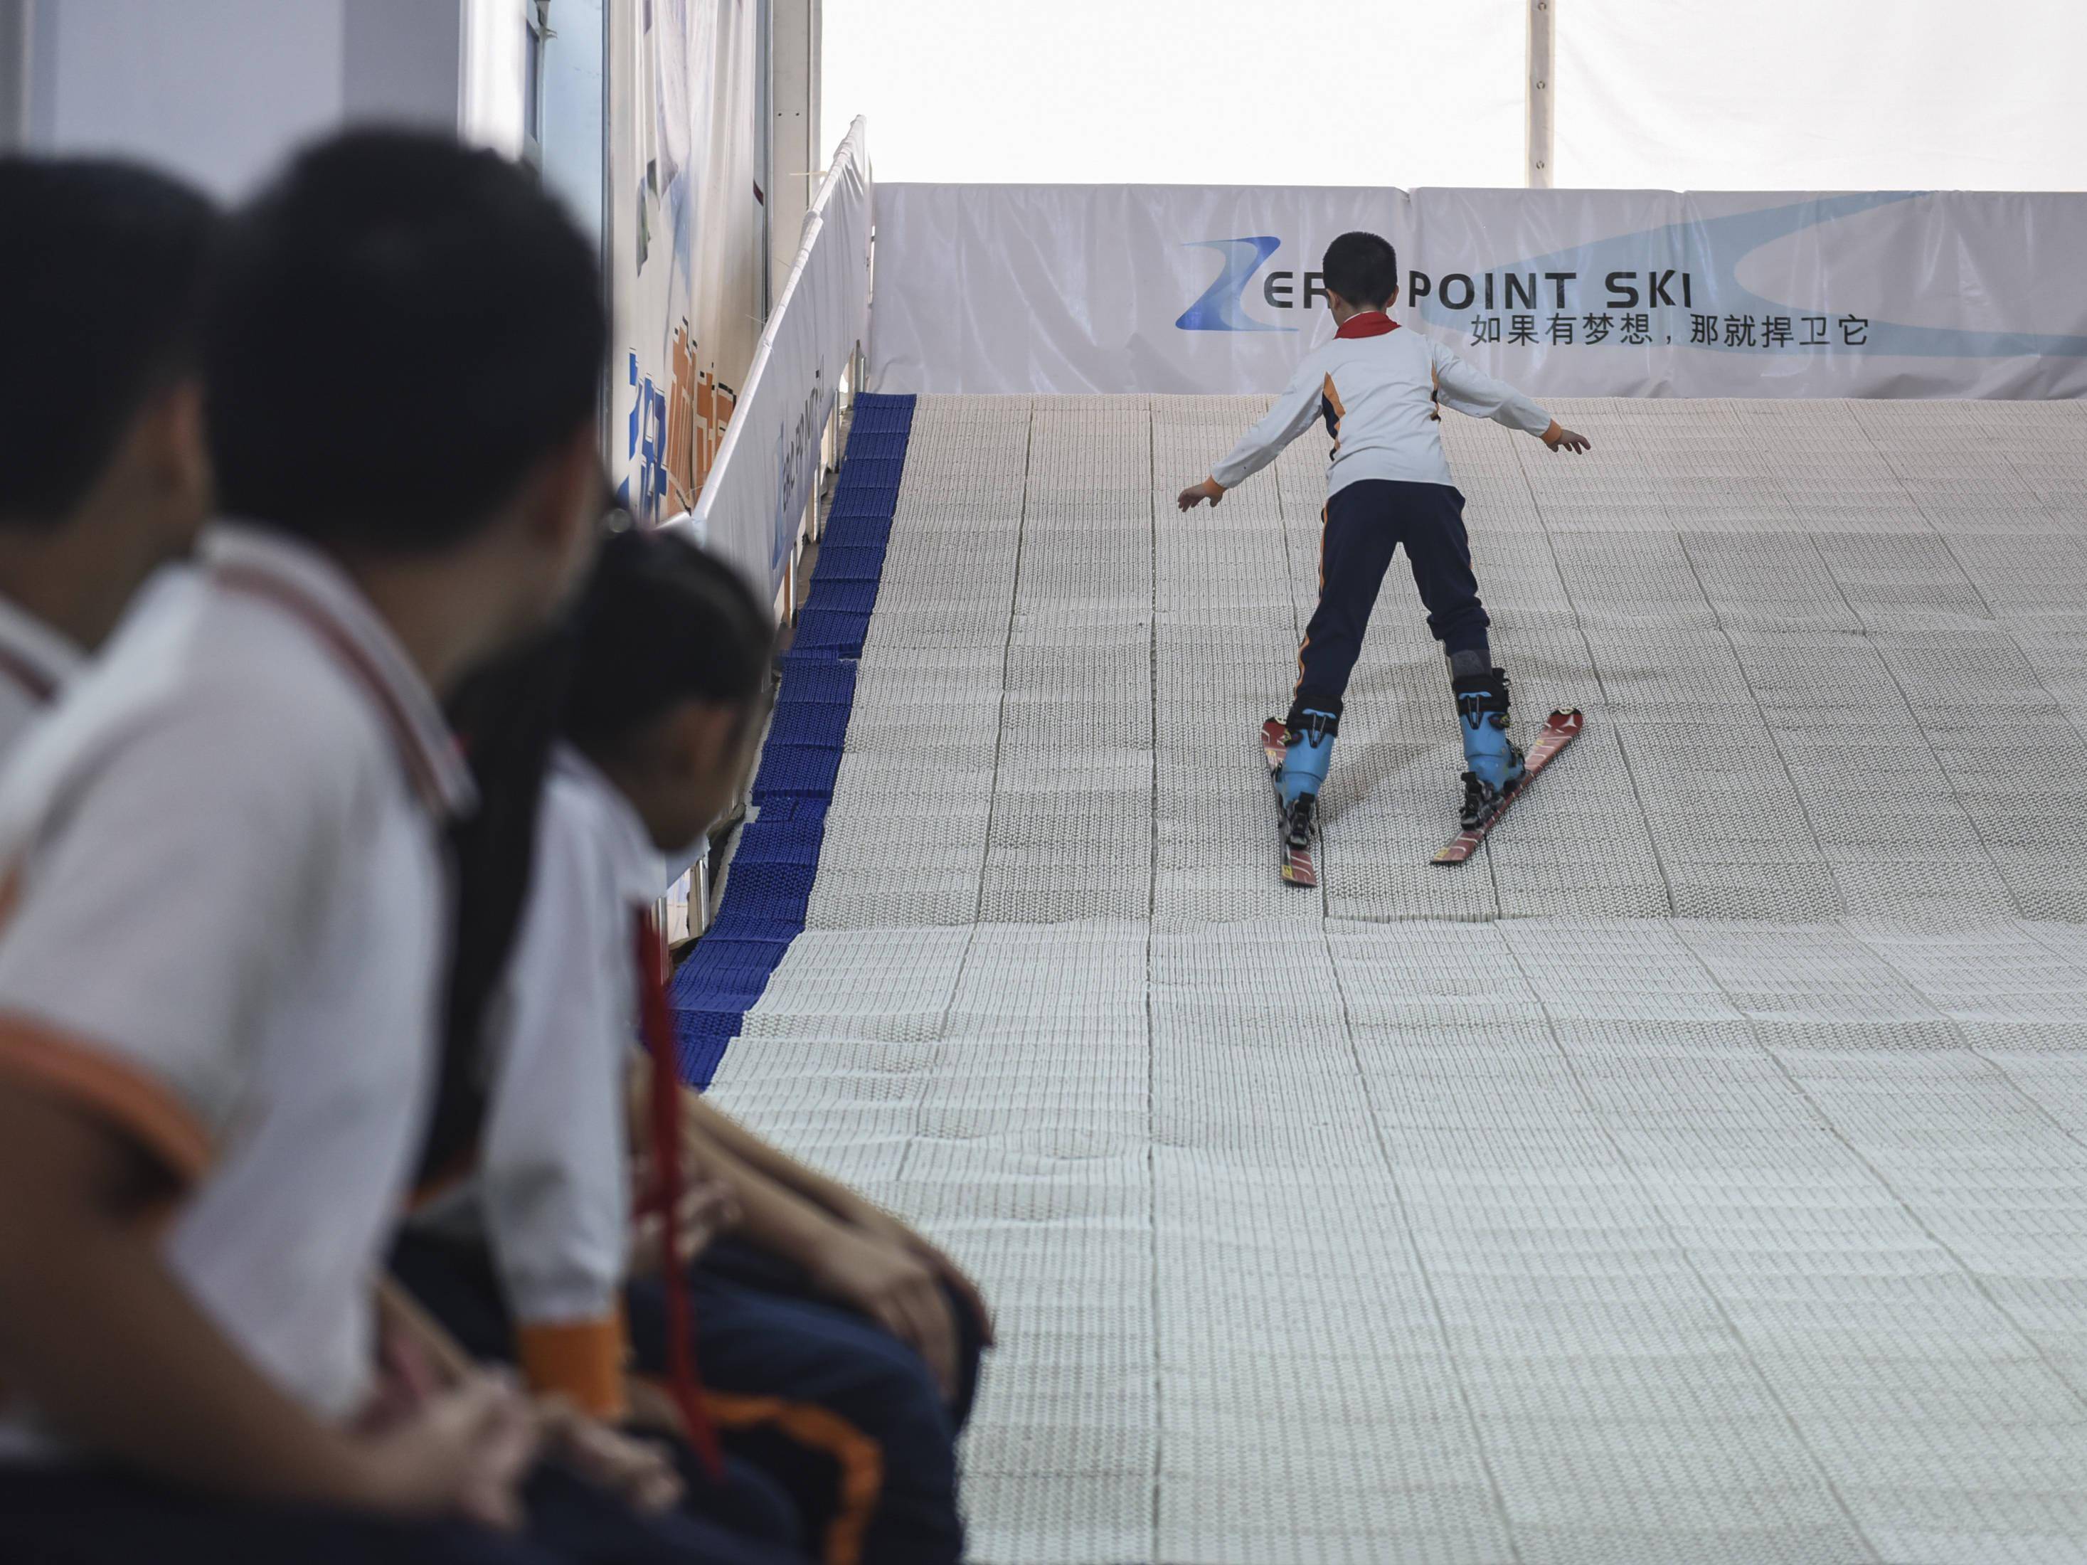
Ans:
{"type": "Polygon", "coordinates": [[[639,1517],[622,1500],[547,1469],[528,1486],[528,1525],[386,1521],[315,1507],[240,1504],[115,1471],[0,1469],[0,1559],[8,1565],[785,1565],[793,1552],[691,1515],[639,1517]]]}

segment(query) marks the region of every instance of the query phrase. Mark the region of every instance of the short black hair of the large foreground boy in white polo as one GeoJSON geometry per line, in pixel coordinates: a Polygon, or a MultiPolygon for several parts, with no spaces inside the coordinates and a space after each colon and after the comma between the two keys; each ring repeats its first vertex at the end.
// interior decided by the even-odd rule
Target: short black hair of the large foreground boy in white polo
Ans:
{"type": "Polygon", "coordinates": [[[534,175],[401,129],[301,152],[227,234],[205,319],[219,505],[319,545],[470,538],[591,426],[595,246],[534,175]]]}

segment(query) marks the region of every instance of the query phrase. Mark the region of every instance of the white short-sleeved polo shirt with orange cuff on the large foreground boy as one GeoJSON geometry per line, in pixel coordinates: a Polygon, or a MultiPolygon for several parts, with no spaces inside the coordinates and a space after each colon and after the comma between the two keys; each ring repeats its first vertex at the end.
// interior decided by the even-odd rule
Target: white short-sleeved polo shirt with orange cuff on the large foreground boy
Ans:
{"type": "MultiPolygon", "coordinates": [[[[321,1419],[369,1390],[434,1081],[442,824],[470,799],[369,601],[230,524],[0,785],[0,1070],[182,1181],[169,1271],[321,1419]]],[[[61,1450],[6,1408],[0,1454],[61,1450]]]]}

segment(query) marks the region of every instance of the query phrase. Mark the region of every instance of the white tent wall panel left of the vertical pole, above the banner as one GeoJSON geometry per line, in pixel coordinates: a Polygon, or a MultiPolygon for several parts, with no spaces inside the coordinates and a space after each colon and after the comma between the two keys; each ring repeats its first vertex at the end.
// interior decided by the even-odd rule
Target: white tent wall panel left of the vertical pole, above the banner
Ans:
{"type": "Polygon", "coordinates": [[[885,179],[1521,184],[1528,0],[829,0],[885,179]]]}

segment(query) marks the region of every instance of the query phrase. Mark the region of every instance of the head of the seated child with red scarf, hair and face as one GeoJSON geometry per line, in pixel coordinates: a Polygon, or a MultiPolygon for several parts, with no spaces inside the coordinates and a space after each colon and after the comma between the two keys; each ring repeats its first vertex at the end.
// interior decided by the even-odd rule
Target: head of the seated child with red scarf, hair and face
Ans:
{"type": "Polygon", "coordinates": [[[664,851],[733,803],[768,693],[774,622],[716,555],[662,532],[609,538],[580,599],[566,735],[664,851]]]}

